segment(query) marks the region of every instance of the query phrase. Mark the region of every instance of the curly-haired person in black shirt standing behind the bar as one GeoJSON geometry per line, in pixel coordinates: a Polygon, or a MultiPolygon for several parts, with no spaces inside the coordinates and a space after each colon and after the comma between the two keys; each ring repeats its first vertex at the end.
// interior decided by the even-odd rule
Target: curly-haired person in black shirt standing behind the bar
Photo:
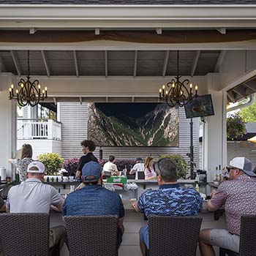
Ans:
{"type": "Polygon", "coordinates": [[[92,154],[92,152],[95,150],[96,146],[92,140],[83,140],[81,142],[83,156],[80,157],[78,170],[75,173],[75,176],[77,178],[81,177],[81,172],[83,169],[83,165],[86,164],[86,162],[99,162],[98,159],[92,154]]]}

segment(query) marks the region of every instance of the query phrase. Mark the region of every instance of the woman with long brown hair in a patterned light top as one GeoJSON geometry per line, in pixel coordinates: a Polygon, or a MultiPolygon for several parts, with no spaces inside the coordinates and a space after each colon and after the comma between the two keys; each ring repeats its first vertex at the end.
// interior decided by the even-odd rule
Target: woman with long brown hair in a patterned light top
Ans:
{"type": "Polygon", "coordinates": [[[16,171],[20,175],[20,181],[26,180],[26,170],[29,164],[33,162],[32,155],[33,155],[32,146],[30,144],[23,144],[21,148],[20,159],[8,160],[12,165],[15,165],[16,171]]]}

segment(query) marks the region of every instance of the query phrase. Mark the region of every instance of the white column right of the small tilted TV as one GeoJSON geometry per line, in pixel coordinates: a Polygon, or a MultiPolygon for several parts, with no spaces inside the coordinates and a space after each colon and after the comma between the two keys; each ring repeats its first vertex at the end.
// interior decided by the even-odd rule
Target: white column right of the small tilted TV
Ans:
{"type": "Polygon", "coordinates": [[[214,105],[214,116],[206,118],[203,134],[203,166],[208,170],[208,181],[214,180],[216,167],[227,165],[227,132],[225,91],[217,91],[219,75],[207,75],[208,94],[214,105]]]}

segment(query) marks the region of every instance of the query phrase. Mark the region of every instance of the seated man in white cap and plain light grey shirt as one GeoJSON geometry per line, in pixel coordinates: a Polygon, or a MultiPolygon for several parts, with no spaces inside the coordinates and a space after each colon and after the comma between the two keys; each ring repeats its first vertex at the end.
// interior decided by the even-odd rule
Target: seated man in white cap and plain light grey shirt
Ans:
{"type": "MultiPolygon", "coordinates": [[[[58,191],[48,184],[43,184],[45,165],[31,162],[27,169],[26,181],[10,188],[7,196],[7,208],[11,213],[49,213],[53,207],[62,211],[64,200],[58,191]]],[[[64,244],[66,229],[64,226],[50,228],[50,248],[61,241],[64,244]]]]}

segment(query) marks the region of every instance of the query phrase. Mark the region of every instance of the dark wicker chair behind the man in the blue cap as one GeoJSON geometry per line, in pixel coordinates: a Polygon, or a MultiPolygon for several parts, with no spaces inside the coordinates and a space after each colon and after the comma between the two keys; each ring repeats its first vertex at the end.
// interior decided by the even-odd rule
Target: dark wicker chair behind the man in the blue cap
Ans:
{"type": "Polygon", "coordinates": [[[69,256],[117,256],[116,215],[64,217],[69,256]]]}

